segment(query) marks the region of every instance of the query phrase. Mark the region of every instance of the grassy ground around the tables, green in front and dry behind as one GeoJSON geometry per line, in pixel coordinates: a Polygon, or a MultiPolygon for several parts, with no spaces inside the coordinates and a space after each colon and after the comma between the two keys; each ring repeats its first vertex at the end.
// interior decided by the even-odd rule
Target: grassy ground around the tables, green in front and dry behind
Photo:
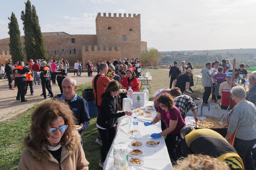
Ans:
{"type": "MultiPolygon", "coordinates": [[[[152,81],[150,82],[149,100],[153,101],[152,95],[155,91],[162,88],[169,88],[170,79],[169,69],[147,69],[151,76],[152,81]]],[[[194,75],[198,75],[201,69],[194,69],[194,75]]],[[[248,71],[248,75],[251,72],[248,71]]],[[[142,75],[146,74],[146,70],[142,70],[142,75]]],[[[196,84],[194,79],[194,84],[196,84]]],[[[140,82],[141,83],[141,82],[140,82]]],[[[87,82],[85,84],[79,85],[76,93],[82,96],[82,90],[85,88],[92,88],[92,83],[87,82]]],[[[196,89],[192,88],[195,94],[199,94],[202,98],[203,87],[197,85],[196,89]]],[[[140,91],[143,91],[141,89],[140,91]]],[[[10,119],[5,122],[0,122],[0,170],[2,169],[17,169],[20,155],[24,148],[22,147],[22,139],[30,131],[30,115],[35,108],[32,107],[28,109],[25,113],[20,114],[18,117],[10,119]]],[[[86,159],[90,162],[89,169],[102,169],[99,166],[100,160],[100,149],[101,146],[95,144],[95,140],[98,134],[96,127],[97,116],[91,117],[90,125],[84,130],[83,139],[83,149],[86,159]]]]}

